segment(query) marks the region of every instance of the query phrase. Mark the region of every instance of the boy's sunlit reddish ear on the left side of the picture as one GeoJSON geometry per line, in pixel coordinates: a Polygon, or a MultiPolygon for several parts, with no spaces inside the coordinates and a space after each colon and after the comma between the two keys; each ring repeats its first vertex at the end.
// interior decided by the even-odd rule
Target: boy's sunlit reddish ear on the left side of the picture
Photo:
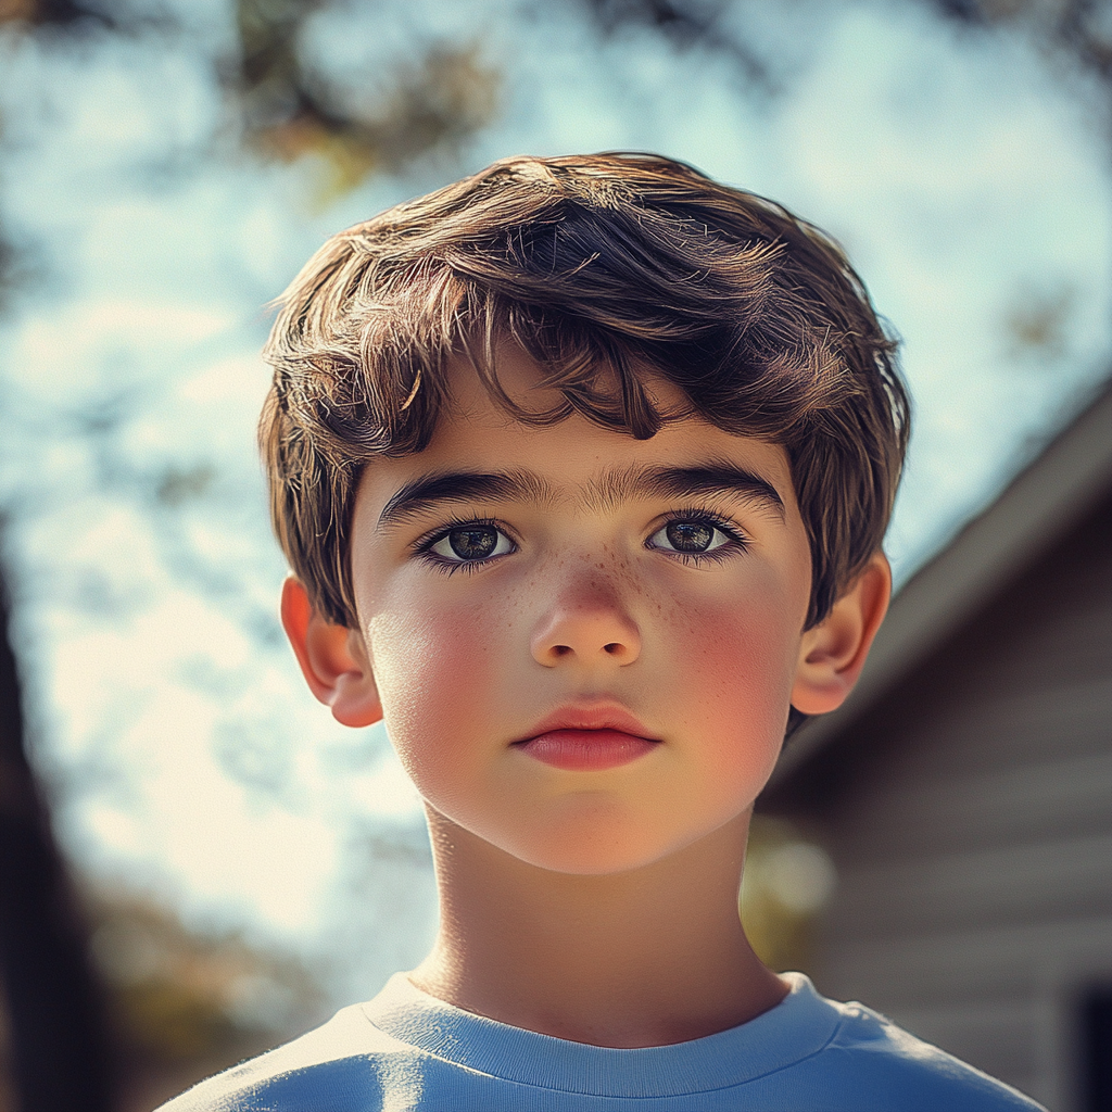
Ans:
{"type": "Polygon", "coordinates": [[[294,576],[282,584],[281,624],[309,691],[331,707],[337,722],[369,726],[383,717],[363,634],[326,622],[309,600],[305,584],[294,576]]]}

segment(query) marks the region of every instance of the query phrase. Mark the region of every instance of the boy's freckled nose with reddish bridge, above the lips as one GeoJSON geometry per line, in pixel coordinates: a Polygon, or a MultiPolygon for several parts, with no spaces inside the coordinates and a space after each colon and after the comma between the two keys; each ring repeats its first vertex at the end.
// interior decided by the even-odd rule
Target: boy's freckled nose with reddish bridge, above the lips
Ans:
{"type": "Polygon", "coordinates": [[[537,623],[533,658],[554,668],[563,662],[633,664],[641,656],[641,629],[610,585],[572,583],[537,623]]]}

